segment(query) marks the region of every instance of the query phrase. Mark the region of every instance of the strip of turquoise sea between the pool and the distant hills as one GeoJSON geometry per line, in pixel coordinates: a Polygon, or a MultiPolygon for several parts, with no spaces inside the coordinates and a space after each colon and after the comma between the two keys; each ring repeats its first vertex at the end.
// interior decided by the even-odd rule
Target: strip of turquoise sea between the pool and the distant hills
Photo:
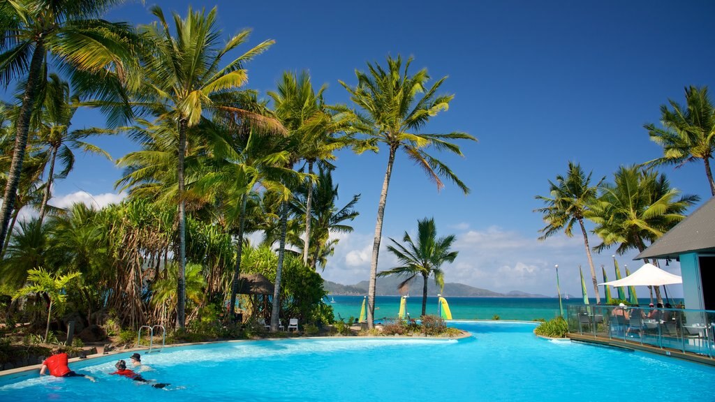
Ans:
{"type": "MultiPolygon", "coordinates": [[[[491,320],[495,315],[501,320],[549,320],[558,316],[558,298],[446,298],[455,320],[491,320]]],[[[413,318],[422,313],[422,297],[407,299],[407,312],[413,318]]],[[[332,306],[336,319],[358,318],[363,296],[327,296],[327,304],[332,306]],[[335,301],[333,301],[335,300],[335,301]]],[[[649,299],[638,299],[641,305],[648,305],[649,299]]],[[[672,301],[672,300],[671,300],[672,301]]],[[[583,299],[562,299],[563,310],[567,305],[583,305],[583,299]]],[[[595,304],[596,300],[591,300],[595,304]]],[[[436,315],[437,298],[427,298],[427,313],[436,315]]],[[[400,296],[376,296],[375,319],[397,318],[400,310],[400,296]]]]}

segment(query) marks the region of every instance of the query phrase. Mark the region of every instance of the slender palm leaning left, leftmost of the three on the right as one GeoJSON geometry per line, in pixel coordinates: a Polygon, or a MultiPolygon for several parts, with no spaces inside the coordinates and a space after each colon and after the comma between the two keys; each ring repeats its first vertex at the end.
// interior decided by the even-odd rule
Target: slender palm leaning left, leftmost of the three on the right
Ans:
{"type": "Polygon", "coordinates": [[[583,225],[583,218],[590,205],[596,200],[598,186],[601,185],[605,177],[592,186],[591,175],[592,173],[588,173],[588,176],[586,176],[578,163],[568,162],[566,177],[556,176],[556,183],[549,180],[550,196],[536,196],[536,199],[543,201],[546,207],[538,208],[534,212],[541,212],[543,220],[546,222],[546,226],[539,230],[543,235],[538,240],[546,240],[547,237],[561,230],[566,236],[572,237],[573,225],[578,222],[578,226],[581,227],[581,235],[583,235],[583,245],[586,247],[588,266],[591,268],[593,293],[596,295],[596,303],[601,304],[601,296],[598,295],[596,269],[593,268],[591,246],[588,245],[588,233],[583,225]]]}

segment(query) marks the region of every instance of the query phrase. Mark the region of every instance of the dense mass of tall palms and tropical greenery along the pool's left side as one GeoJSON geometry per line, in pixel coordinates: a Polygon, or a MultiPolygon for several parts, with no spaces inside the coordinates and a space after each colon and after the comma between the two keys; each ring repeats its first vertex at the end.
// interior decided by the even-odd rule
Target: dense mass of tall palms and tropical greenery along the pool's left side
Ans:
{"type": "Polygon", "coordinates": [[[325,269],[333,253],[332,235],[352,230],[360,198],[337,204],[335,152],[377,152],[386,144],[372,325],[377,250],[397,150],[438,188],[447,178],[468,192],[427,151],[461,155],[453,140],[474,138],[418,132],[452,100],[436,94],[445,78],[428,88],[425,69],[410,75],[412,59],[403,64],[388,57],[388,69],[368,64],[354,87],[341,82],[354,108],[327,104],[326,87],[315,88],[307,72],[285,72],[265,101],[246,88],[246,64],[272,40],[238,52],[250,30],[224,36],[215,8],[189,7],[167,19],[153,6],[155,21],[137,27],[102,19],[122,2],[0,6],[0,80],[19,93],[16,102],[0,104],[0,290],[14,296],[8,314],[34,294],[36,305],[61,301],[89,323],[110,317],[126,328],[184,328],[225,309],[234,317],[241,273],[261,273],[275,284],[272,308],[247,307],[246,298],[242,307],[270,316],[272,330],[287,315],[332,320],[317,268],[325,269]],[[71,129],[79,107],[101,110],[110,128],[71,129]],[[103,134],[139,144],[116,160],[123,169],[116,186],[127,199],[99,210],[51,205],[53,185],[72,171],[74,152],[109,157],[86,142],[103,134]],[[38,216],[19,219],[28,208],[38,216]],[[247,241],[252,232],[263,233],[261,245],[247,241]],[[58,294],[61,300],[53,300],[58,294]]]}

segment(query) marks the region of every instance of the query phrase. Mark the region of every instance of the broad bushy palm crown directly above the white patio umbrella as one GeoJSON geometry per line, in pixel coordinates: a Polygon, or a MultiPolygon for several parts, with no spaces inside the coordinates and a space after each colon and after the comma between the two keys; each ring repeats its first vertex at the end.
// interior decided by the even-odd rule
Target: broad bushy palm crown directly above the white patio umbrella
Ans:
{"type": "MultiPolygon", "coordinates": [[[[684,212],[699,201],[696,195],[680,195],[665,175],[638,166],[620,167],[614,182],[601,186],[598,200],[586,212],[601,238],[599,253],[617,245],[616,253],[643,251],[685,218],[684,212]]],[[[646,261],[647,263],[647,261],[646,261]]],[[[656,297],[662,303],[660,289],[656,297]]]]}

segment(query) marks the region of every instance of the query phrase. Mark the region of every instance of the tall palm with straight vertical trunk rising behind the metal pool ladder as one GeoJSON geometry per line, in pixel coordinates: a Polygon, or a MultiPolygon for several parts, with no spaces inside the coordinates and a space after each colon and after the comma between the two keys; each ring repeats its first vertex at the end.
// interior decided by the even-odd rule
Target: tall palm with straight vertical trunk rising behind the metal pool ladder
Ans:
{"type": "MultiPolygon", "coordinates": [[[[189,11],[185,19],[174,14],[173,30],[164,12],[153,6],[158,24],[144,25],[140,32],[149,51],[144,54],[145,81],[139,102],[147,104],[162,119],[174,122],[177,128],[177,199],[179,205],[179,247],[177,273],[177,324],[184,328],[184,269],[186,265],[186,205],[184,200],[184,158],[189,129],[197,126],[204,110],[231,109],[214,102],[217,97],[242,87],[247,82],[243,64],[264,52],[273,41],[264,41],[245,54],[222,66],[227,53],[244,43],[250,31],[232,36],[220,44],[221,31],[216,28],[216,8],[189,11]],[[172,36],[172,32],[174,36],[172,36]]],[[[240,110],[235,110],[240,113],[240,110]]]]}

